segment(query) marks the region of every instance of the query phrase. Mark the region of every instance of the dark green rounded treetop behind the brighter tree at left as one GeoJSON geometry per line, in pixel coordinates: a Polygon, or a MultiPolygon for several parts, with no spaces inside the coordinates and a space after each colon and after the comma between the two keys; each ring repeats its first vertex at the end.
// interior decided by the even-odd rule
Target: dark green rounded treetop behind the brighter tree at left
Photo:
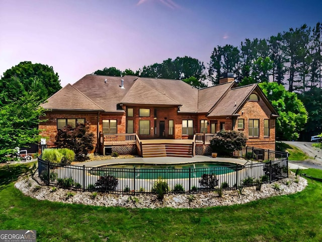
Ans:
{"type": "Polygon", "coordinates": [[[36,93],[38,100],[45,100],[61,89],[59,76],[53,68],[39,63],[21,62],[7,70],[1,79],[2,92],[7,91],[8,83],[13,80],[20,80],[25,91],[36,93]]]}

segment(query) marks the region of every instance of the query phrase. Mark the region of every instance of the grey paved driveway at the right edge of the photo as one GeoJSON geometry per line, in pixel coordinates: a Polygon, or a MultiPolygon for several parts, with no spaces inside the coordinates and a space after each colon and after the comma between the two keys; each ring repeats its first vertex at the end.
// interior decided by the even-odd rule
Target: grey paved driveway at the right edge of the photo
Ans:
{"type": "Polygon", "coordinates": [[[299,142],[299,141],[282,141],[285,144],[293,145],[298,147],[304,153],[306,153],[309,158],[303,161],[293,161],[293,164],[304,166],[307,168],[322,169],[322,150],[312,147],[313,142],[299,142]]]}

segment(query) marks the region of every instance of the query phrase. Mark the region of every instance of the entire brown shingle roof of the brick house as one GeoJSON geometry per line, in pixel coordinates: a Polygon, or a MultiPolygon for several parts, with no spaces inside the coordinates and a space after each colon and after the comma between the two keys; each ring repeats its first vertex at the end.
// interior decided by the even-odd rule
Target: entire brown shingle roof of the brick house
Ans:
{"type": "MultiPolygon", "coordinates": [[[[59,90],[42,106],[47,109],[124,112],[117,109],[118,104],[165,105],[181,106],[179,112],[227,116],[237,112],[255,88],[262,93],[256,84],[236,88],[236,83],[230,82],[199,90],[180,80],[86,75],[72,86],[68,84],[59,90]]],[[[274,110],[265,95],[261,95],[274,110]]]]}

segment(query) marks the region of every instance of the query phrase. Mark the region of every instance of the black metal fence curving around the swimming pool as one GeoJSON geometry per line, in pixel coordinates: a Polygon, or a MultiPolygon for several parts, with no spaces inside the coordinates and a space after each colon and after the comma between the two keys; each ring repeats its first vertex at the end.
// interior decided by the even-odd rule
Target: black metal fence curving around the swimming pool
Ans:
{"type": "MultiPolygon", "coordinates": [[[[256,150],[257,153],[253,152],[259,155],[259,150],[256,150]]],[[[278,158],[280,154],[273,153],[267,153],[272,158],[267,162],[249,160],[245,165],[225,163],[206,168],[198,168],[201,165],[195,163],[182,169],[86,167],[50,163],[40,156],[38,169],[39,176],[47,185],[79,191],[150,193],[155,192],[157,184],[162,182],[168,185],[170,192],[195,193],[259,186],[288,177],[287,154],[278,158]]]]}

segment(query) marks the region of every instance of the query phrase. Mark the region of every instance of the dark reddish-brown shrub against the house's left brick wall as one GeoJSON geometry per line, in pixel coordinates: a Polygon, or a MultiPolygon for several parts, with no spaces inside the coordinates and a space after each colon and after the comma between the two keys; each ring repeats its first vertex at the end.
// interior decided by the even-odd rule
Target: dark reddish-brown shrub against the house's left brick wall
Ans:
{"type": "Polygon", "coordinates": [[[94,133],[90,132],[90,123],[70,125],[58,130],[55,145],[58,148],[68,148],[74,151],[76,158],[86,156],[94,149],[94,133]]]}

